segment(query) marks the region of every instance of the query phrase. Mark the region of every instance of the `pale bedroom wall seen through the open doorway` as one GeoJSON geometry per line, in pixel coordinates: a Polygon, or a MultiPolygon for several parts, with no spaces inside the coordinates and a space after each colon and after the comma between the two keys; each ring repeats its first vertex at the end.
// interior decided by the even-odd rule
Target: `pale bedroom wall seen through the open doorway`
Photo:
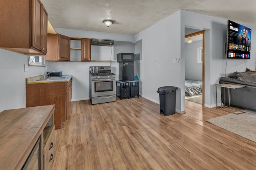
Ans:
{"type": "Polygon", "coordinates": [[[202,81],[202,63],[197,63],[197,49],[203,41],[185,43],[185,79],[202,81]]]}

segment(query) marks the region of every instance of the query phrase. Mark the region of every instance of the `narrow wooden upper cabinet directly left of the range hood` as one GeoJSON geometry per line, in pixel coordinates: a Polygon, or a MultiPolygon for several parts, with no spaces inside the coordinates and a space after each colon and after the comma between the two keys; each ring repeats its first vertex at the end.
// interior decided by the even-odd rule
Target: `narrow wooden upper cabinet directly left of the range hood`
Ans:
{"type": "Polygon", "coordinates": [[[81,61],[91,60],[91,39],[81,39],[81,61]]]}

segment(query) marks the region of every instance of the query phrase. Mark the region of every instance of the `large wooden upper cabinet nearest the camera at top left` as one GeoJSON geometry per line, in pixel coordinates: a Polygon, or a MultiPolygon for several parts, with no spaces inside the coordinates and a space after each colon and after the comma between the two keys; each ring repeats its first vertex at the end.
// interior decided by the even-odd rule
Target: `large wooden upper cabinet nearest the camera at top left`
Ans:
{"type": "Polygon", "coordinates": [[[45,55],[48,14],[40,0],[1,0],[0,48],[45,55]]]}

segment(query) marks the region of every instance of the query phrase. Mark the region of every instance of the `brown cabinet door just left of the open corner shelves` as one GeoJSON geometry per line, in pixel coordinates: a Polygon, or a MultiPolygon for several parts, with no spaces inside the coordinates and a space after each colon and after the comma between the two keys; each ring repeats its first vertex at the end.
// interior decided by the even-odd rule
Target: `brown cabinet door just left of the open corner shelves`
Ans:
{"type": "Polygon", "coordinates": [[[70,37],[59,34],[58,60],[70,61],[70,37]]]}

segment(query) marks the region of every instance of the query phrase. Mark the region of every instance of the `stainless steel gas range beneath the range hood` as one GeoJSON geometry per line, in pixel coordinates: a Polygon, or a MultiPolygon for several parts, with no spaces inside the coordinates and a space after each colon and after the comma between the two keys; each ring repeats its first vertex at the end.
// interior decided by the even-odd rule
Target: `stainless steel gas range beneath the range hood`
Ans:
{"type": "Polygon", "coordinates": [[[116,101],[116,74],[111,66],[90,66],[90,101],[100,104],[116,101]]]}

